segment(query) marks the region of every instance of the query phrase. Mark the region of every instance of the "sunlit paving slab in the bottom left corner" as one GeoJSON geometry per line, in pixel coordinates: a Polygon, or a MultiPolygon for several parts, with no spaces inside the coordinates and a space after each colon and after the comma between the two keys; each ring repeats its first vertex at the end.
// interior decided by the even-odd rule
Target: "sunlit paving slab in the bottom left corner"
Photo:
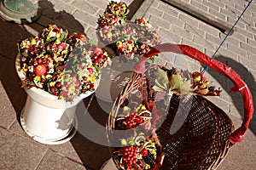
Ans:
{"type": "Polygon", "coordinates": [[[46,149],[0,127],[0,169],[36,169],[46,149]]]}

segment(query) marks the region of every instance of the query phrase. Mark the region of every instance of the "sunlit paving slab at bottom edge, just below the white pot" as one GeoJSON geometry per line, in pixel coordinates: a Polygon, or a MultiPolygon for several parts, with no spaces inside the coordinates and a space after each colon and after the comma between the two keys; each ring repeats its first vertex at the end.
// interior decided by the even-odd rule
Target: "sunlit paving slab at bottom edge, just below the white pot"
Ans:
{"type": "Polygon", "coordinates": [[[64,169],[78,169],[85,170],[86,168],[65,156],[61,156],[55,151],[47,150],[44,158],[40,161],[37,170],[64,170],[64,169]]]}

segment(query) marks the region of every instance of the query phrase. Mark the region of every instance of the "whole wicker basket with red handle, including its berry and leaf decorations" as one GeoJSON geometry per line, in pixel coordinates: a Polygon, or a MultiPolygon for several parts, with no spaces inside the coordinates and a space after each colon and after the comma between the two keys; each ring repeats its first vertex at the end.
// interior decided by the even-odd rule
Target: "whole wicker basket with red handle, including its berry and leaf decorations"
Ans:
{"type": "Polygon", "coordinates": [[[119,169],[216,169],[232,144],[241,141],[253,115],[246,84],[227,65],[185,45],[160,44],[144,55],[108,117],[111,154],[119,169]],[[219,95],[199,72],[144,65],[160,52],[200,60],[235,83],[245,100],[245,119],[234,131],[224,111],[207,100],[219,95]]]}

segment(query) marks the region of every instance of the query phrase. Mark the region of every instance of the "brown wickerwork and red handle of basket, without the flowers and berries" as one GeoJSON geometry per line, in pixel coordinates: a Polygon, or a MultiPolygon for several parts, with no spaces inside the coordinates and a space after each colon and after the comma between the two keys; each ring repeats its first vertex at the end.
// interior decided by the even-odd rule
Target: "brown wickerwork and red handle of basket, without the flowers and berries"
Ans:
{"type": "MultiPolygon", "coordinates": [[[[211,59],[206,54],[202,54],[197,49],[189,46],[170,43],[160,44],[151,49],[145,55],[145,58],[138,62],[131,81],[127,83],[115,100],[108,117],[109,142],[113,143],[113,140],[118,138],[115,132],[109,129],[115,129],[116,117],[119,116],[119,110],[125,105],[128,95],[136,90],[142,94],[142,100],[148,99],[152,95],[148,90],[148,79],[143,72],[145,69],[144,61],[148,57],[161,52],[186,54],[212,67],[229,77],[235,84],[232,91],[240,91],[244,99],[244,121],[241,127],[234,132],[233,123],[229,116],[205,97],[195,94],[180,97],[172,94],[169,108],[166,110],[165,120],[155,131],[165,153],[160,169],[216,169],[220,162],[224,160],[230,147],[243,139],[253,116],[253,98],[245,82],[229,66],[211,59]],[[179,125],[176,122],[178,119],[183,119],[184,123],[179,125]],[[178,130],[170,133],[170,130],[172,131],[176,127],[178,130]]],[[[116,148],[110,148],[110,150],[113,154],[116,148]]],[[[114,154],[113,160],[115,161],[114,154]]]]}

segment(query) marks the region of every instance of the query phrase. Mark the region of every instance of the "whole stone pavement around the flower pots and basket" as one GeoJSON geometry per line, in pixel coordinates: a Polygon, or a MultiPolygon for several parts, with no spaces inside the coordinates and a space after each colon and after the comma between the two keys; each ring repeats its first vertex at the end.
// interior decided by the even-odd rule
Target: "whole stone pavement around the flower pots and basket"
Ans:
{"type": "MultiPolygon", "coordinates": [[[[185,0],[198,10],[212,14],[219,20],[234,24],[247,0],[185,0]]],[[[44,26],[57,24],[69,31],[85,32],[90,35],[96,28],[98,14],[106,8],[107,0],[33,0],[41,9],[39,20],[26,26],[0,20],[0,169],[100,169],[109,156],[108,148],[85,139],[77,133],[65,144],[46,145],[29,139],[20,127],[20,111],[26,94],[20,88],[15,72],[15,56],[18,53],[18,40],[31,37],[44,26]]],[[[201,20],[189,16],[164,1],[146,0],[131,1],[131,10],[137,15],[144,15],[153,28],[164,35],[164,42],[176,42],[200,49],[209,56],[218,48],[224,39],[224,33],[207,25],[201,20]],[[147,4],[146,4],[147,3],[147,4]],[[142,4],[139,8],[139,4],[142,4]],[[143,11],[143,13],[142,13],[143,11]]],[[[237,24],[232,36],[228,37],[218,51],[216,59],[230,65],[247,82],[254,100],[256,99],[256,2],[254,1],[237,24]]],[[[182,59],[174,57],[174,65],[180,65],[182,59]]],[[[186,66],[190,71],[199,71],[202,65],[194,59],[187,59],[186,66]]],[[[241,124],[243,111],[241,96],[230,94],[232,83],[218,73],[209,70],[209,80],[223,89],[221,96],[211,98],[214,104],[222,108],[235,124],[241,124]]],[[[84,105],[89,99],[84,99],[84,105]]],[[[254,102],[255,105],[255,102],[254,102]]],[[[256,106],[256,105],[255,105],[256,106]]],[[[254,106],[254,107],[255,107],[254,106]]],[[[90,105],[90,111],[97,111],[96,99],[90,105]]],[[[107,114],[93,115],[98,122],[104,124],[107,114]]],[[[256,167],[256,116],[250,124],[245,139],[233,146],[218,170],[245,169],[256,167]]]]}

